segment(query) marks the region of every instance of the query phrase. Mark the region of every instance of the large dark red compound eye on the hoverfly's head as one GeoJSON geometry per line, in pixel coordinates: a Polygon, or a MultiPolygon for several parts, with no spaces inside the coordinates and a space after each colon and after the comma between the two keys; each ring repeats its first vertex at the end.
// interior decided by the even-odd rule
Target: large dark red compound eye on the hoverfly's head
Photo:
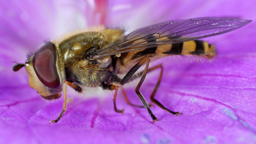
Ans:
{"type": "Polygon", "coordinates": [[[38,79],[48,88],[57,88],[60,77],[56,67],[57,50],[55,44],[45,43],[33,57],[33,67],[38,79]]]}

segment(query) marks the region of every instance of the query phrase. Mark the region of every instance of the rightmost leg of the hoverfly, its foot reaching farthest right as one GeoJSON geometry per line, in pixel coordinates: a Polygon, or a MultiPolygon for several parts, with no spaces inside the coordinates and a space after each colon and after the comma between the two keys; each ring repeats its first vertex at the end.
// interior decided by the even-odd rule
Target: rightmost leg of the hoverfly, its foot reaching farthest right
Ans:
{"type": "Polygon", "coordinates": [[[173,112],[173,111],[171,111],[171,110],[165,108],[163,104],[161,104],[158,100],[156,100],[156,99],[154,98],[154,97],[155,97],[155,94],[156,94],[156,91],[157,91],[157,89],[159,88],[159,85],[160,85],[162,76],[163,76],[163,66],[162,66],[161,64],[156,65],[155,67],[152,67],[152,70],[155,70],[155,69],[157,69],[157,68],[160,68],[160,69],[161,69],[161,72],[160,72],[160,75],[159,75],[159,77],[158,77],[156,86],[155,86],[153,92],[151,93],[150,100],[151,100],[153,103],[157,104],[160,108],[164,109],[165,111],[167,111],[167,112],[169,112],[169,113],[172,113],[172,114],[175,115],[175,116],[177,116],[177,115],[182,115],[181,112],[173,112]]]}

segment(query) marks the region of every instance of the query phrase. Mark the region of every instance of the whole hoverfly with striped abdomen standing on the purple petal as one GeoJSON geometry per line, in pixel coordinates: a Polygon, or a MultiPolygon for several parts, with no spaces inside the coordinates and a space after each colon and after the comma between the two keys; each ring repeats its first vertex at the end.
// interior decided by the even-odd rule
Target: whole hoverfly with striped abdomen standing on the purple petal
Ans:
{"type": "Polygon", "coordinates": [[[159,119],[140,93],[146,74],[155,69],[161,72],[150,100],[173,115],[182,113],[169,110],[154,98],[163,67],[161,64],[149,67],[149,63],[171,55],[197,55],[212,59],[216,56],[214,45],[196,39],[229,32],[250,22],[236,18],[201,17],[166,21],[137,29],[128,35],[122,27],[95,27],[45,43],[28,57],[25,64],[14,65],[13,71],[25,67],[30,87],[44,99],[57,99],[64,91],[63,111],[56,120],[51,120],[52,123],[59,121],[67,110],[67,85],[77,92],[82,92],[83,87],[114,90],[114,109],[123,113],[124,109],[116,107],[117,90],[121,85],[140,78],[135,91],[143,106],[130,103],[124,93],[125,99],[130,105],[145,107],[155,122],[159,119]],[[145,68],[140,71],[142,65],[145,68]],[[120,77],[120,74],[124,76],[120,77]]]}

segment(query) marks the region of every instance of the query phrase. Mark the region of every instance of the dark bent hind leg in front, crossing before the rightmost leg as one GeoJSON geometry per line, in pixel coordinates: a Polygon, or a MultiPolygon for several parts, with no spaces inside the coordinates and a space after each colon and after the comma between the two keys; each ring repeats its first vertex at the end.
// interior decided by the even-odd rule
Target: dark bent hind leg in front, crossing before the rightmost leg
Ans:
{"type": "Polygon", "coordinates": [[[145,56],[143,57],[143,59],[141,59],[137,64],[135,64],[131,70],[124,76],[124,78],[121,80],[121,85],[127,83],[127,81],[132,77],[132,75],[144,64],[146,63],[145,69],[143,71],[143,74],[141,75],[140,81],[137,84],[136,88],[135,88],[135,92],[137,94],[137,96],[139,97],[140,101],[143,103],[144,107],[148,110],[149,115],[152,117],[153,122],[155,121],[159,121],[159,119],[156,118],[156,116],[153,114],[153,112],[151,111],[151,109],[149,108],[149,105],[147,103],[147,101],[145,100],[145,98],[143,97],[143,95],[140,93],[140,87],[146,77],[146,74],[148,72],[148,65],[149,65],[149,57],[145,56]]]}

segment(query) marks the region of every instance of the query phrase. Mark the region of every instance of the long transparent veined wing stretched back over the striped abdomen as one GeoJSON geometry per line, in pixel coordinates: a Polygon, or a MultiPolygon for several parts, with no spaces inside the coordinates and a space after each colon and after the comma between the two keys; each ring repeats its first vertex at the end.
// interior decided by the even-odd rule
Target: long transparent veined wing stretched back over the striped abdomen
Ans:
{"type": "Polygon", "coordinates": [[[242,27],[250,22],[251,20],[220,17],[166,21],[137,29],[125,36],[124,40],[113,44],[111,47],[96,51],[93,53],[92,58],[98,59],[104,56],[152,48],[159,45],[181,43],[183,41],[219,35],[242,27]]]}

